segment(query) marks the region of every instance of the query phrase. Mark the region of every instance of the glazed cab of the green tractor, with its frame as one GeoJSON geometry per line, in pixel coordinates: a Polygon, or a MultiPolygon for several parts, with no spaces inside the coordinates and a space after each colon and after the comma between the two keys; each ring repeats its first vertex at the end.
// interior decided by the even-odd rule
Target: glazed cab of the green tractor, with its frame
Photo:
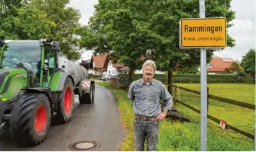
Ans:
{"type": "Polygon", "coordinates": [[[0,40],[0,71],[14,72],[27,79],[27,87],[48,86],[58,68],[59,45],[49,40],[0,40]],[[19,70],[17,70],[19,69],[19,70]]]}

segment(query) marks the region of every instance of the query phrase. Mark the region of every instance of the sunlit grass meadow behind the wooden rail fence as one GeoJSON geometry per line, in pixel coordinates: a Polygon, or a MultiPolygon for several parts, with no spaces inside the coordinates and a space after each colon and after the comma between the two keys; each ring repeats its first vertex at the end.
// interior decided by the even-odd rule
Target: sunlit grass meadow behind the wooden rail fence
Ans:
{"type": "MultiPolygon", "coordinates": [[[[200,91],[200,84],[177,84],[177,86],[183,86],[188,89],[195,89],[200,91]]],[[[239,96],[245,97],[244,94],[248,95],[247,103],[252,103],[252,97],[255,99],[255,85],[248,84],[208,84],[210,93],[216,96],[230,99],[237,99],[239,96]],[[244,88],[244,89],[243,89],[244,88]],[[223,93],[225,92],[225,93],[223,93]],[[239,95],[237,95],[239,93],[239,95]],[[232,94],[232,95],[230,95],[232,94]],[[237,98],[236,98],[237,97],[237,98]]],[[[200,109],[200,95],[193,94],[187,91],[180,91],[180,101],[184,102],[196,109],[200,109]]],[[[245,98],[244,98],[245,99],[245,98]]],[[[233,104],[227,104],[219,102],[217,100],[209,99],[208,114],[213,117],[217,117],[221,120],[225,120],[228,125],[232,125],[235,128],[244,130],[247,133],[255,134],[255,110],[239,107],[233,104]]],[[[255,102],[255,101],[254,101],[255,102]]],[[[177,107],[180,112],[184,111],[183,106],[177,107]]],[[[195,115],[193,118],[200,119],[200,115],[195,115]]],[[[216,124],[217,126],[218,124],[216,124]]]]}

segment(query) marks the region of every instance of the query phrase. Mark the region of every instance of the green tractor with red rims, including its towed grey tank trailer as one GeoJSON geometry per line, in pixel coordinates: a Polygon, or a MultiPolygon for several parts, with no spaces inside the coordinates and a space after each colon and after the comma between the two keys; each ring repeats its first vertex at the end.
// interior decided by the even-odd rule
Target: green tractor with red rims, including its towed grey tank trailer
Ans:
{"type": "Polygon", "coordinates": [[[53,40],[0,40],[0,125],[19,146],[45,140],[51,123],[71,120],[74,94],[94,100],[87,70],[61,54],[53,40]]]}

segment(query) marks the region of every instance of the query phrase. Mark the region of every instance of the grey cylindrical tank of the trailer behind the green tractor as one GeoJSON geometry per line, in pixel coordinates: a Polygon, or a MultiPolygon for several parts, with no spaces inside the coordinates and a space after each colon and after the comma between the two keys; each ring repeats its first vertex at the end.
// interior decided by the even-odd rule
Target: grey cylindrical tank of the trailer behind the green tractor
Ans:
{"type": "Polygon", "coordinates": [[[80,66],[79,63],[69,61],[65,55],[58,55],[58,68],[65,66],[64,71],[69,73],[74,79],[74,84],[79,84],[81,79],[89,79],[89,73],[86,68],[80,66]]]}

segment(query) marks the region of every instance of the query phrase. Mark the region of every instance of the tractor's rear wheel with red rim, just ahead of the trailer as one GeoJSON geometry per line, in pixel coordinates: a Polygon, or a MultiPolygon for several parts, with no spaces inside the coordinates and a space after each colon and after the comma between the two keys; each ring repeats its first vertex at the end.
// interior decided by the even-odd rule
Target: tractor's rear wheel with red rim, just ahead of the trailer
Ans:
{"type": "Polygon", "coordinates": [[[71,79],[66,79],[63,91],[58,97],[58,111],[52,122],[66,123],[71,120],[74,102],[74,85],[71,79]]]}

